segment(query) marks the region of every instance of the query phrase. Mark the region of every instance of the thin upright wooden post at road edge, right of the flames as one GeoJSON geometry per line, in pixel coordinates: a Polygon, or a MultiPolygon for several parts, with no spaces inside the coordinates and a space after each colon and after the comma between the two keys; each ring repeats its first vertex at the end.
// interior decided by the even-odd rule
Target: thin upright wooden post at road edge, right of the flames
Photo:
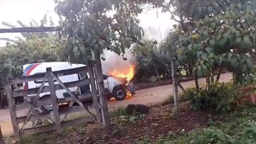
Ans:
{"type": "Polygon", "coordinates": [[[175,112],[179,115],[179,81],[177,77],[177,65],[175,62],[175,58],[171,60],[171,71],[173,77],[173,99],[175,103],[175,112]]]}

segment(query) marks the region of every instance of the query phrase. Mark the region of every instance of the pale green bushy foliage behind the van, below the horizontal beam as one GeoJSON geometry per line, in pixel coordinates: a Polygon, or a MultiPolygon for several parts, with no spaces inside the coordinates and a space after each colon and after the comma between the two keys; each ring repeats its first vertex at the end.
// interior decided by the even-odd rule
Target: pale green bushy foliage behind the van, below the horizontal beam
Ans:
{"type": "Polygon", "coordinates": [[[60,56],[62,45],[58,43],[58,37],[30,37],[31,39],[18,39],[14,43],[7,43],[7,46],[1,48],[0,73],[10,73],[13,77],[18,77],[22,75],[24,64],[63,60],[60,56]]]}

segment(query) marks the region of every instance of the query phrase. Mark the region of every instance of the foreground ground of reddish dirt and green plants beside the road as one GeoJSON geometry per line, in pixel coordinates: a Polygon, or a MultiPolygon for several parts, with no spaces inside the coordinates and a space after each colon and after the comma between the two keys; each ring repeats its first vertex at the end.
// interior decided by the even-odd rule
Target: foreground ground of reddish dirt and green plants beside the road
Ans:
{"type": "Polygon", "coordinates": [[[81,124],[66,128],[61,134],[48,132],[24,137],[22,142],[255,143],[256,107],[250,101],[239,103],[244,96],[255,94],[254,84],[242,88],[235,88],[231,83],[218,84],[215,91],[207,94],[205,87],[200,87],[200,90],[200,94],[195,93],[194,88],[186,90],[188,93],[183,96],[186,99],[181,102],[179,115],[175,114],[173,101],[150,107],[147,115],[128,115],[121,107],[110,111],[110,130],[102,129],[100,124],[81,124]],[[211,98],[214,94],[217,101],[223,103],[211,98]],[[211,100],[202,100],[205,96],[211,100]]]}

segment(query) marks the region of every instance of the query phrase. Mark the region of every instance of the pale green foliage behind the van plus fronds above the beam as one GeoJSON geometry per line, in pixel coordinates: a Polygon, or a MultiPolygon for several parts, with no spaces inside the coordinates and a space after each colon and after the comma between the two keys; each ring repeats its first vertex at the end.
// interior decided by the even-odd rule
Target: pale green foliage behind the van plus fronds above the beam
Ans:
{"type": "MultiPolygon", "coordinates": [[[[53,22],[50,18],[50,25],[53,22]]],[[[27,27],[18,21],[19,27],[27,27]]],[[[16,27],[7,22],[5,26],[16,27]]],[[[48,25],[47,15],[43,16],[40,23],[32,20],[30,26],[48,25]]],[[[7,45],[0,49],[0,73],[9,73],[13,77],[22,75],[22,65],[37,62],[55,62],[65,60],[62,52],[62,42],[54,33],[22,33],[22,37],[17,40],[2,38],[7,40],[7,45]]]]}

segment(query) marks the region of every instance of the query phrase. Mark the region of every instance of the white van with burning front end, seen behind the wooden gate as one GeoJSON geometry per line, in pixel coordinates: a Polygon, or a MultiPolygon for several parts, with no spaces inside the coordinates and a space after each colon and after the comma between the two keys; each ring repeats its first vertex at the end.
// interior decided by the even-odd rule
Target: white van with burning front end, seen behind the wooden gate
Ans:
{"type": "MultiPolygon", "coordinates": [[[[35,75],[39,73],[46,73],[46,68],[51,67],[52,71],[60,71],[64,69],[72,69],[76,67],[84,67],[86,65],[83,64],[75,64],[75,63],[68,63],[68,62],[45,62],[45,63],[31,63],[23,65],[23,75],[29,76],[29,75],[35,75]]],[[[87,76],[88,78],[88,73],[87,76]]],[[[81,74],[73,74],[73,75],[64,75],[61,77],[58,77],[60,81],[62,82],[73,82],[73,81],[79,81],[81,79],[81,74]]],[[[103,75],[104,79],[104,88],[106,91],[107,99],[115,98],[117,100],[123,100],[127,96],[127,91],[131,92],[131,94],[135,94],[135,89],[133,87],[133,84],[127,84],[127,81],[115,79],[114,77],[109,77],[108,75],[103,75]]],[[[23,89],[28,90],[30,88],[37,88],[41,85],[43,80],[40,81],[30,81],[30,82],[24,82],[23,89]]],[[[58,84],[58,82],[54,81],[55,84],[58,84]]],[[[45,82],[45,85],[48,85],[47,82],[45,82]]],[[[75,92],[77,87],[69,88],[71,92],[75,92]]],[[[81,93],[85,94],[87,92],[91,92],[91,88],[88,85],[81,86],[81,93]]],[[[35,96],[35,95],[32,95],[35,96]]],[[[45,92],[40,94],[40,98],[49,98],[50,92],[45,92]]],[[[58,99],[62,98],[68,98],[70,97],[70,94],[66,92],[66,90],[56,90],[56,97],[58,99]]],[[[51,111],[53,109],[52,105],[44,105],[43,110],[45,111],[51,111]]]]}

